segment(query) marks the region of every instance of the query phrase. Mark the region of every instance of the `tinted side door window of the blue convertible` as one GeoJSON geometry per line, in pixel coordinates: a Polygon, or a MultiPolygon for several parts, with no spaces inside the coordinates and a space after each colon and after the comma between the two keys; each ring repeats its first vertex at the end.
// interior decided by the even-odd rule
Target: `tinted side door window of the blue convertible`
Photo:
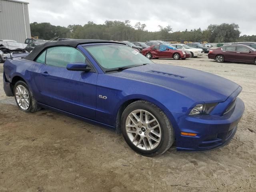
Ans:
{"type": "Polygon", "coordinates": [[[67,64],[75,62],[85,62],[85,56],[73,47],[58,46],[47,49],[47,65],[66,67],[67,64]]]}

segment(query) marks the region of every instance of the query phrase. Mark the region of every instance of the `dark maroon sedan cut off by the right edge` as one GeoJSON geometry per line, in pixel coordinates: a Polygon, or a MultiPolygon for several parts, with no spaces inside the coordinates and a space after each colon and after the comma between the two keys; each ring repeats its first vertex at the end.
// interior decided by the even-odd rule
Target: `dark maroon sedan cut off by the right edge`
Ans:
{"type": "Polygon", "coordinates": [[[256,49],[247,45],[226,45],[210,50],[208,58],[214,59],[218,63],[232,61],[256,65],[256,49]]]}

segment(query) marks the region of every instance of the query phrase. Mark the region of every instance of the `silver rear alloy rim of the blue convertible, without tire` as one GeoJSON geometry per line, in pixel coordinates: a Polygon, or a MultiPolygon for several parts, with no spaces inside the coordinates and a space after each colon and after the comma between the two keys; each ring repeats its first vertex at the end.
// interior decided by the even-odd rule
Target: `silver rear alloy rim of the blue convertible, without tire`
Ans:
{"type": "Polygon", "coordinates": [[[23,110],[28,110],[30,100],[28,90],[24,86],[18,85],[16,87],[15,97],[20,108],[22,108],[23,110]]]}

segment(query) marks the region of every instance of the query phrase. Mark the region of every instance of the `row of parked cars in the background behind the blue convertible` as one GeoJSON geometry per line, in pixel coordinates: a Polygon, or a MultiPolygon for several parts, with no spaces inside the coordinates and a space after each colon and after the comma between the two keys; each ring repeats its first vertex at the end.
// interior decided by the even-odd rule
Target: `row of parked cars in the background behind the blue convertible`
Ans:
{"type": "MultiPolygon", "coordinates": [[[[59,38],[57,41],[72,40],[67,38],[59,38]]],[[[0,40],[0,63],[7,58],[15,58],[22,56],[34,50],[38,45],[46,42],[54,42],[43,39],[28,38],[25,43],[18,43],[15,40],[0,40]]],[[[188,42],[186,44],[171,44],[161,40],[151,40],[144,42],[123,41],[131,48],[138,50],[141,54],[149,59],[173,58],[174,60],[185,60],[203,56],[209,53],[208,58],[214,59],[216,62],[247,62],[256,64],[256,43],[255,42],[239,42],[231,45],[222,46],[216,49],[210,49],[209,44],[201,44],[199,42],[188,42]]]]}

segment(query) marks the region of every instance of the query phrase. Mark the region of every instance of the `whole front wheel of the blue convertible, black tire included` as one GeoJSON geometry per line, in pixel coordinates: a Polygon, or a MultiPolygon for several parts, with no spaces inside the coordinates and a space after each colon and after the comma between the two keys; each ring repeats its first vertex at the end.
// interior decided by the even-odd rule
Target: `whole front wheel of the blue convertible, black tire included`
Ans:
{"type": "Polygon", "coordinates": [[[121,122],[124,140],[135,152],[143,156],[161,155],[174,142],[174,129],[167,116],[156,105],[145,100],[138,100],[128,105],[122,114],[121,122]]]}

